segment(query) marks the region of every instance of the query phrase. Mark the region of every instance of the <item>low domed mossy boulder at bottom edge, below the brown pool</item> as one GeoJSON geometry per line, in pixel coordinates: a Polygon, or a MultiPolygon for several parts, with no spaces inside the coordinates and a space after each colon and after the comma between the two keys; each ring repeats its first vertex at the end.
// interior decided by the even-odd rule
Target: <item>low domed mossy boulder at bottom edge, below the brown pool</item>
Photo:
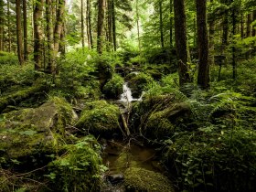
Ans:
{"type": "Polygon", "coordinates": [[[167,177],[144,168],[128,168],[124,179],[127,192],[175,191],[167,177]]]}

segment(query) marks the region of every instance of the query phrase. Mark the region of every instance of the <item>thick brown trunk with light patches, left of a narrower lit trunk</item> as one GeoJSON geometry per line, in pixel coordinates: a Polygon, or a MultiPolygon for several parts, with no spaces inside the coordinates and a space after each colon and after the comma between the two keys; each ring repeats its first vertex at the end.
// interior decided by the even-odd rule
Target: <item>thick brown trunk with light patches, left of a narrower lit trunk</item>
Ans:
{"type": "Polygon", "coordinates": [[[43,0],[36,0],[34,10],[34,61],[35,69],[43,69],[43,0]]]}

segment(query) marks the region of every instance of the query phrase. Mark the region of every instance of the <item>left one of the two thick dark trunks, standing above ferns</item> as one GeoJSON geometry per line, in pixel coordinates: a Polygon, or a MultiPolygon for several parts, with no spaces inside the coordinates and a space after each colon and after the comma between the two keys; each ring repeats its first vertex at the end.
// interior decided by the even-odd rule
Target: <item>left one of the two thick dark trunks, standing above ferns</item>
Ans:
{"type": "Polygon", "coordinates": [[[187,23],[185,12],[185,1],[174,0],[175,10],[175,34],[176,34],[176,57],[178,63],[179,85],[183,86],[190,82],[188,74],[187,62],[189,60],[187,47],[187,23]]]}

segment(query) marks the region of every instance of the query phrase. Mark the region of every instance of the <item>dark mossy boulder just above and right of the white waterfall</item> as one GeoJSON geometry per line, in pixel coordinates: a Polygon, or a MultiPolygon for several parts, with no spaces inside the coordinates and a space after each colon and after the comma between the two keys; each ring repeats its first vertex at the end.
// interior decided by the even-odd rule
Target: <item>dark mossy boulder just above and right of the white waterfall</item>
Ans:
{"type": "Polygon", "coordinates": [[[131,80],[129,80],[128,86],[131,88],[133,92],[133,97],[139,98],[142,92],[144,91],[144,87],[152,81],[152,77],[144,73],[139,73],[135,75],[131,80]]]}

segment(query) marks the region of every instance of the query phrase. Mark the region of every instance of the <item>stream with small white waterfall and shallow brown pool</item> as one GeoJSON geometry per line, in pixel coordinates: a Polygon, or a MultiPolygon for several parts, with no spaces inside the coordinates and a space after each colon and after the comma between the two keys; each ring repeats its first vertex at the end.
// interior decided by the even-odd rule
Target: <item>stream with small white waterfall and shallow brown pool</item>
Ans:
{"type": "MultiPolygon", "coordinates": [[[[118,102],[123,103],[126,109],[121,111],[129,111],[127,108],[131,108],[132,101],[143,101],[143,96],[144,92],[140,98],[133,98],[132,91],[125,82],[123,94],[118,102]]],[[[102,176],[101,192],[125,192],[124,175],[129,167],[144,168],[162,174],[166,171],[155,149],[141,144],[134,138],[126,141],[101,139],[100,144],[103,149],[103,164],[108,167],[108,171],[102,176]]]]}

